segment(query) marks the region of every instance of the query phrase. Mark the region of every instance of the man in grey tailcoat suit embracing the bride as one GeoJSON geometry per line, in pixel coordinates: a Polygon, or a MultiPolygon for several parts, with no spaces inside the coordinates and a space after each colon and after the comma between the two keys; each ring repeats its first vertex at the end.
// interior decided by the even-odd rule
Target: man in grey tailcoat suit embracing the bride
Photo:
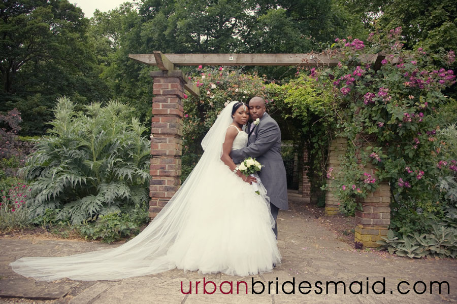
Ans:
{"type": "Polygon", "coordinates": [[[287,182],[281,157],[281,131],[276,121],[265,110],[265,101],[261,97],[256,96],[249,101],[249,115],[254,122],[249,124],[246,130],[249,134],[248,144],[244,148],[233,150],[230,157],[235,164],[241,163],[247,157],[254,157],[262,164],[258,176],[270,197],[271,214],[275,219],[273,232],[277,239],[276,218],[279,209],[288,209],[287,182]]]}

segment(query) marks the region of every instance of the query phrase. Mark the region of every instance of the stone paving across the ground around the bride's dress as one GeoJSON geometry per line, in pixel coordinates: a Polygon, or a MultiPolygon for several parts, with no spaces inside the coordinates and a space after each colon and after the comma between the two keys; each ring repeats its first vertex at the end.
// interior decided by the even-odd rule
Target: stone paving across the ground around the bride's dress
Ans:
{"type": "MultiPolygon", "coordinates": [[[[457,261],[452,259],[409,259],[385,256],[377,252],[355,250],[326,227],[319,224],[314,215],[301,208],[303,202],[297,193],[290,193],[289,211],[278,216],[279,248],[282,264],[272,273],[252,277],[232,277],[223,274],[199,275],[196,272],[172,270],[157,275],[129,278],[115,281],[72,281],[36,282],[34,279],[17,275],[9,263],[23,256],[62,256],[116,245],[98,242],[37,239],[0,239],[0,303],[62,303],[62,304],[128,304],[128,303],[455,303],[457,302],[457,261]],[[213,294],[203,294],[203,280],[217,285],[213,294]],[[295,280],[295,290],[292,283],[295,280]],[[198,293],[195,282],[201,281],[198,293]],[[234,294],[229,283],[233,282],[234,294]],[[236,282],[241,284],[236,294],[236,282]],[[257,282],[258,281],[258,282],[257,282]],[[307,285],[309,282],[310,285],[307,285]],[[319,281],[321,282],[319,284],[319,281]],[[337,292],[335,284],[338,282],[337,292]],[[358,281],[361,283],[352,283],[358,281]],[[375,283],[380,281],[379,283],[375,283]],[[401,283],[402,281],[405,281],[401,283]],[[421,282],[424,283],[421,283],[421,282]],[[431,293],[430,282],[435,283],[431,293]],[[189,290],[190,294],[181,292],[189,290]],[[252,294],[252,282],[254,291],[252,294]],[[260,283],[262,282],[262,283],[260,283]],[[268,286],[270,283],[270,293],[268,286]],[[304,283],[301,283],[304,282],[304,283]],[[385,282],[385,284],[381,283],[385,282]],[[418,282],[418,283],[416,283],[418,282]],[[398,284],[400,288],[397,289],[398,284]],[[343,286],[345,284],[345,286],[343,286]],[[407,285],[409,284],[409,286],[407,285]],[[413,287],[416,287],[414,292],[413,287]],[[425,284],[425,285],[424,285],[425,284]],[[262,291],[264,285],[265,291],[262,291]],[[276,291],[276,285],[278,291],[276,291]],[[362,294],[357,293],[362,285],[362,294]],[[299,289],[301,286],[301,289],[299,289]],[[318,286],[318,287],[316,287],[318,286]],[[368,286],[368,288],[367,288],[368,286]],[[383,291],[383,286],[385,286],[383,291]],[[221,287],[221,289],[219,288],[221,287]],[[244,288],[243,288],[244,287],[244,288]],[[282,289],[284,287],[284,289],[282,289]],[[307,288],[310,287],[310,288],[307,288]],[[345,288],[344,288],[345,287],[345,288]],[[426,287],[425,292],[424,287],[426,287]],[[382,292],[376,294],[376,292],[382,292]],[[295,291],[292,293],[292,291],[295,291]],[[307,294],[302,294],[300,291],[307,294]],[[319,292],[322,291],[320,294],[319,292]],[[345,291],[345,293],[344,293],[345,291]],[[288,294],[290,293],[290,294],[288,294]],[[402,294],[405,293],[405,294],[402,294]]],[[[207,291],[214,289],[207,284],[207,291]]]]}

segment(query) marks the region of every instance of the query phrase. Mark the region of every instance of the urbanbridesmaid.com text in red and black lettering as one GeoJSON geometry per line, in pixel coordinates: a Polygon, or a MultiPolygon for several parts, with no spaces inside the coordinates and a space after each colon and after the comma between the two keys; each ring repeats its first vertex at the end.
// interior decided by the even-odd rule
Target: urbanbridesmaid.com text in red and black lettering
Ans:
{"type": "MultiPolygon", "coordinates": [[[[399,294],[423,294],[433,291],[438,291],[439,294],[447,292],[449,294],[449,282],[447,281],[400,281],[394,289],[386,291],[385,287],[385,277],[382,278],[382,281],[375,281],[370,286],[369,278],[365,282],[363,281],[352,281],[350,283],[345,283],[343,281],[316,281],[314,284],[308,281],[301,281],[300,283],[295,280],[295,277],[291,281],[285,281],[280,283],[278,278],[276,281],[268,281],[266,283],[262,281],[254,281],[254,278],[251,280],[250,284],[251,294],[263,294],[268,292],[268,294],[276,293],[278,294],[280,290],[285,294],[309,294],[314,292],[315,294],[385,294],[399,293],[399,294]]],[[[182,294],[213,294],[217,290],[222,294],[248,294],[248,283],[246,281],[223,281],[219,284],[216,284],[213,281],[207,281],[206,278],[203,278],[203,282],[186,282],[181,281],[181,293],[182,294]],[[193,284],[192,284],[193,283],[193,284]]]]}

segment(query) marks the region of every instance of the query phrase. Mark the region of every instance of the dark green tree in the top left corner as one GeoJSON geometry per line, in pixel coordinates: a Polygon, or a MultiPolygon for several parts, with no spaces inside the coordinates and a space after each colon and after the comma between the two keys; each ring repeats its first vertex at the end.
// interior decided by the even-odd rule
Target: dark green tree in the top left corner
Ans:
{"type": "Polygon", "coordinates": [[[21,134],[44,134],[59,96],[82,104],[106,98],[88,25],[81,9],[67,0],[0,4],[0,111],[21,112],[21,134]]]}

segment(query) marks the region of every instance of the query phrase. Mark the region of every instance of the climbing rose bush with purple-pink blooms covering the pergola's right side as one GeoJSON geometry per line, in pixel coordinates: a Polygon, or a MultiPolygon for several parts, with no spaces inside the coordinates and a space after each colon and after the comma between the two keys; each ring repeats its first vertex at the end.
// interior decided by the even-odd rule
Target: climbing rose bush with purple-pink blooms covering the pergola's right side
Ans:
{"type": "Polygon", "coordinates": [[[445,159],[445,143],[436,134],[443,127],[440,107],[452,101],[443,91],[454,85],[455,75],[449,68],[453,52],[404,50],[401,38],[396,28],[370,34],[370,47],[352,37],[336,39],[330,52],[338,67],[312,70],[310,77],[322,86],[333,82],[339,109],[334,117],[348,138],[351,153],[337,190],[342,209],[353,212],[354,198],[372,191],[377,179],[387,180],[394,198],[391,227],[410,233],[427,230],[426,223],[442,216],[448,203],[437,181],[455,160],[445,159]],[[358,165],[367,162],[376,166],[376,177],[363,175],[358,165]]]}

